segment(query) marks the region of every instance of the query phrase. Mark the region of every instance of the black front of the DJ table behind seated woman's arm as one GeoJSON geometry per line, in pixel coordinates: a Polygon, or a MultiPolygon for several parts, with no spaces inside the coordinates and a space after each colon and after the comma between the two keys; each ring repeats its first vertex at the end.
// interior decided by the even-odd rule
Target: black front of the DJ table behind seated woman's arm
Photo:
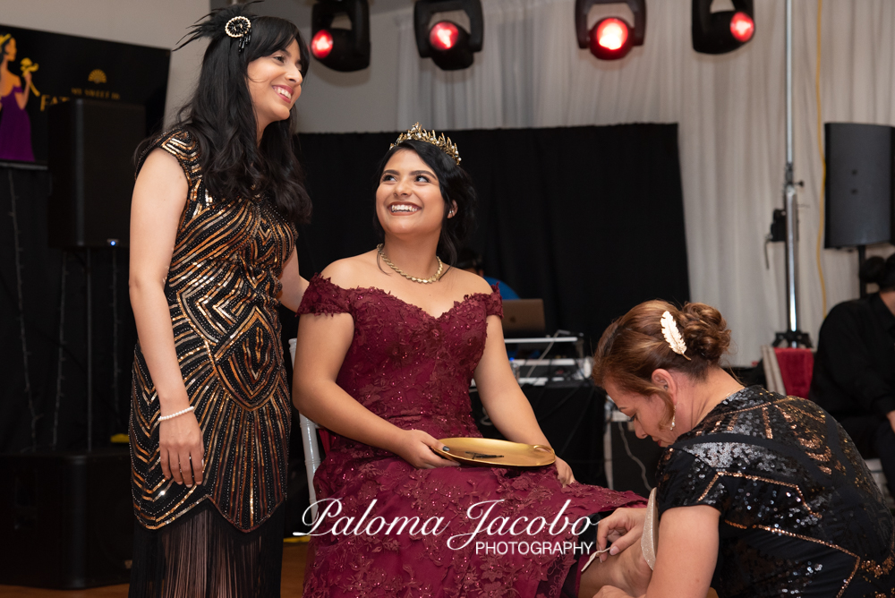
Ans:
{"type": "MultiPolygon", "coordinates": [[[[603,472],[603,405],[606,395],[590,379],[525,385],[541,431],[581,483],[606,485],[603,472]]],[[[478,392],[470,389],[473,418],[485,438],[504,440],[482,410],[478,392]]]]}

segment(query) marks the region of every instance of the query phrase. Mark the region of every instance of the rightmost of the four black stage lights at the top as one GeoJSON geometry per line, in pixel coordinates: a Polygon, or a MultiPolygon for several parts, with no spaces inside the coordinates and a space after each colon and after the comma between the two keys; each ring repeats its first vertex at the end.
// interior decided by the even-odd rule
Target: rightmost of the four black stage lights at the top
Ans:
{"type": "Polygon", "coordinates": [[[726,54],[755,34],[754,0],[733,0],[734,10],[712,13],[712,0],[693,0],[693,49],[726,54]]]}

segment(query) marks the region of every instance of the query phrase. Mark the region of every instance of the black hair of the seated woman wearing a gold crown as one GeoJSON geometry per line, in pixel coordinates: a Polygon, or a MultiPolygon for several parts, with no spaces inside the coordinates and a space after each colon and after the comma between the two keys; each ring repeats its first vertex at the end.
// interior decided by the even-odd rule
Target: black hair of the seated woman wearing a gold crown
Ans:
{"type": "MultiPolygon", "coordinates": [[[[379,162],[376,170],[376,185],[382,178],[382,172],[386,169],[388,160],[402,149],[410,149],[435,171],[439,178],[441,197],[445,201],[445,213],[441,220],[441,236],[439,236],[438,254],[442,261],[450,266],[456,263],[457,253],[463,247],[466,237],[473,229],[475,223],[475,189],[473,179],[466,171],[456,164],[453,158],[432,145],[428,141],[406,140],[389,149],[379,162]],[[456,203],[456,213],[447,218],[447,213],[456,203]]],[[[373,213],[373,228],[379,241],[385,237],[385,231],[379,224],[379,218],[373,213]]]]}

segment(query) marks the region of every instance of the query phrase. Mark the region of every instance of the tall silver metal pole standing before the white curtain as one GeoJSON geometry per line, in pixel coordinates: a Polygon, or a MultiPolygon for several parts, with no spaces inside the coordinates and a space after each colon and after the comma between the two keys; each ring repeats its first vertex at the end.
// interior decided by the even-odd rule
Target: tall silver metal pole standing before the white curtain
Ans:
{"type": "Polygon", "coordinates": [[[792,0],[786,0],[786,174],[783,207],[786,212],[787,330],[778,332],[774,346],[811,346],[811,339],[798,329],[798,204],[792,172],[792,0]]]}

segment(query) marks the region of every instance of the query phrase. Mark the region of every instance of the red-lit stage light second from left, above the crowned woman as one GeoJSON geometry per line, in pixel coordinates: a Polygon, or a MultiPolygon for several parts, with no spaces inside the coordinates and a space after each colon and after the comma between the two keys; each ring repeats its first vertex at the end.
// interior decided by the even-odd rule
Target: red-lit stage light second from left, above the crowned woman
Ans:
{"type": "Polygon", "coordinates": [[[480,0],[417,0],[413,4],[413,30],[421,58],[431,58],[443,71],[468,68],[473,64],[473,54],[482,49],[482,3],[480,0]],[[449,11],[466,13],[470,30],[453,21],[439,21],[429,27],[433,16],[449,11]]]}

